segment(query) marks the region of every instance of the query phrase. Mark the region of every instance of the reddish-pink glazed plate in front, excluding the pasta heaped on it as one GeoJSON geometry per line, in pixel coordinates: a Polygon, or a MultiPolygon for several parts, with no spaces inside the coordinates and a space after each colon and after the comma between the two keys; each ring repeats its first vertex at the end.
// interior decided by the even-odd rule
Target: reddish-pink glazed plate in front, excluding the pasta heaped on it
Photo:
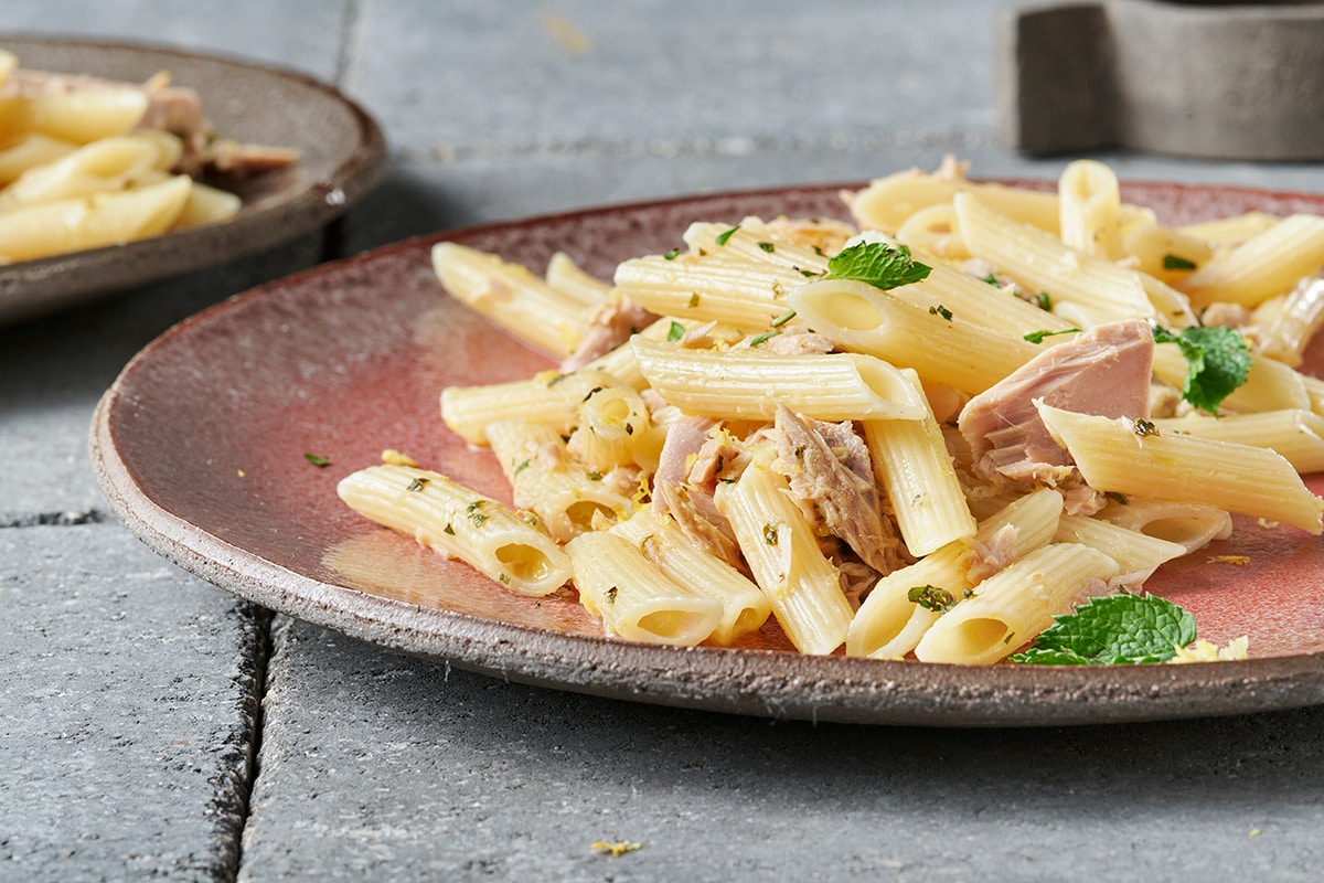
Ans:
{"type": "MultiPolygon", "coordinates": [[[[727,193],[532,218],[409,240],[240,295],[164,334],[105,395],[98,479],[128,527],[238,596],[409,654],[512,680],[637,702],[871,724],[1136,721],[1324,703],[1324,547],[1242,520],[1214,552],[1152,589],[1201,634],[1250,635],[1256,658],[1185,666],[1043,669],[805,657],[775,625],[747,646],[606,639],[567,593],[516,597],[413,540],[365,523],[336,482],[387,447],[508,499],[487,451],[441,422],[446,384],[527,376],[549,363],[450,301],[429,248],[455,240],[536,271],[555,250],[610,277],[665,252],[696,218],[841,216],[838,188],[727,193]],[[330,459],[312,466],[306,453],[330,459]]],[[[1172,222],[1249,209],[1324,213],[1324,197],[1132,184],[1172,222]]],[[[1324,477],[1311,485],[1324,490],[1324,477]]]]}

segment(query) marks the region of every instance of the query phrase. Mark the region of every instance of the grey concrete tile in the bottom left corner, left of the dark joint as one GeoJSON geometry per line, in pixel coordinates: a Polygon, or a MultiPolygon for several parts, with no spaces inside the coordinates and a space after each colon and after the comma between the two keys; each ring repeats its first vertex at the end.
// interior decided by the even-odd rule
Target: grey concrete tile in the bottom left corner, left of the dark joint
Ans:
{"type": "Polygon", "coordinates": [[[0,879],[233,874],[265,639],[119,526],[0,530],[0,879]]]}

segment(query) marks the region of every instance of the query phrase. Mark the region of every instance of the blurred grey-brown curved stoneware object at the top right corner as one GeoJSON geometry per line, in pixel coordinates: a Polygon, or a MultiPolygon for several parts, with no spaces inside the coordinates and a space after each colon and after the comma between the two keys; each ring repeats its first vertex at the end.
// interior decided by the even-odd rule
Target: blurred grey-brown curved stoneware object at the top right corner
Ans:
{"type": "Polygon", "coordinates": [[[1031,155],[1324,158],[1324,4],[1110,0],[1001,11],[1000,135],[1031,155]]]}

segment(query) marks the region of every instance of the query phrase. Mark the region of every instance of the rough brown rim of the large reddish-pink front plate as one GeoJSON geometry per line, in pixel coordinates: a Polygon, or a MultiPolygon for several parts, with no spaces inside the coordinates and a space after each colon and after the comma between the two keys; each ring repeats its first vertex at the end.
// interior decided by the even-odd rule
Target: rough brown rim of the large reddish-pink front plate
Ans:
{"type": "MultiPolygon", "coordinates": [[[[1039,179],[989,179],[997,183],[1039,179]]],[[[1249,195],[1324,195],[1253,187],[1132,181],[1140,188],[1238,191],[1249,195]]],[[[520,683],[775,719],[932,727],[1088,725],[1223,716],[1324,703],[1324,651],[1239,662],[1182,666],[952,666],[846,657],[812,657],[779,650],[659,647],[597,635],[571,634],[477,617],[375,596],[323,582],[266,560],[158,506],[119,458],[111,414],[122,381],[160,343],[208,323],[236,302],[308,278],[354,273],[393,253],[433,242],[465,240],[528,225],[567,222],[593,214],[646,212],[710,200],[831,192],[859,183],[719,191],[598,205],[510,221],[453,228],[387,244],[327,262],[213,304],[163,332],[136,353],[98,401],[89,438],[94,474],[117,516],[159,555],[183,569],[298,620],[367,643],[520,683]],[[240,572],[237,563],[248,565],[240,572]],[[261,588],[258,588],[261,586],[261,588]],[[302,604],[301,604],[302,602],[302,604]],[[442,629],[429,630],[428,624],[442,629]],[[515,653],[506,649],[520,642],[515,653]],[[602,649],[612,659],[604,665],[602,649]],[[624,654],[625,662],[621,662],[624,654]],[[733,655],[732,655],[733,654],[733,655]],[[739,659],[741,690],[732,691],[730,663],[739,659]],[[925,686],[908,688],[904,673],[924,666],[925,686]],[[653,680],[641,682],[639,673],[653,680]],[[1107,676],[1102,674],[1107,671],[1107,676]],[[1200,676],[1196,676],[1200,675],[1200,676]],[[928,682],[939,684],[937,691],[928,682]],[[1234,702],[1229,700],[1237,695],[1234,702]],[[1070,699],[1070,702],[1067,702],[1070,699]]]]}

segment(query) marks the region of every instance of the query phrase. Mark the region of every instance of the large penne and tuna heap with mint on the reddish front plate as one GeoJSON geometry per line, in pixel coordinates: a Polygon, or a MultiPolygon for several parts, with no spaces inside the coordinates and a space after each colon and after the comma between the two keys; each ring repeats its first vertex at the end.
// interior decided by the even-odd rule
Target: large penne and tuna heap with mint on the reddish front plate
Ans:
{"type": "Polygon", "coordinates": [[[1298,368],[1324,218],[1164,226],[1090,160],[1055,193],[949,160],[843,197],[854,224],[694,222],[613,285],[437,245],[454,298],[564,359],[441,393],[514,507],[399,461],[342,499],[511,592],[573,585],[608,635],[731,645],[773,617],[802,653],[945,663],[1139,590],[1233,512],[1321,532],[1324,383],[1298,368]],[[1250,367],[1196,406],[1202,327],[1250,367]]]}

